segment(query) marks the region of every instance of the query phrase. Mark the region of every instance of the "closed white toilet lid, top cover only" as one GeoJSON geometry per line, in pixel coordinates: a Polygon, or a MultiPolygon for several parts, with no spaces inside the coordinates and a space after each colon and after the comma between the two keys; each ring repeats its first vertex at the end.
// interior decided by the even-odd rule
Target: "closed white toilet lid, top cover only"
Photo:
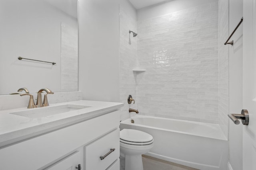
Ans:
{"type": "Polygon", "coordinates": [[[128,142],[147,143],[152,141],[153,137],[146,132],[134,129],[123,129],[120,131],[120,139],[128,142]]]}

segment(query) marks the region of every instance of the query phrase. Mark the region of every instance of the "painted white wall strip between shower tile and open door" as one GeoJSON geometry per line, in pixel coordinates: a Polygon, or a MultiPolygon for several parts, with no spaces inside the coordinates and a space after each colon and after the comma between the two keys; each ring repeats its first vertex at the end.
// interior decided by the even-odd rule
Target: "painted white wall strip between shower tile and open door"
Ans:
{"type": "MultiPolygon", "coordinates": [[[[229,1],[229,33],[240,22],[243,16],[243,0],[229,1]]],[[[242,55],[243,55],[243,24],[241,24],[232,38],[234,45],[229,48],[229,112],[241,113],[242,108],[242,55]]],[[[242,123],[235,125],[229,119],[229,155],[233,170],[242,170],[242,123]]]]}

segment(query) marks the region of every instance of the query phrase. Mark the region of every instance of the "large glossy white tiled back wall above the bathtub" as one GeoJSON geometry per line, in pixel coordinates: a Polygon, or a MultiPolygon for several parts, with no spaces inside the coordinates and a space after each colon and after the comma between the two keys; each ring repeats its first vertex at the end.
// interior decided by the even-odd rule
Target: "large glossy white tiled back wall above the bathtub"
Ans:
{"type": "Polygon", "coordinates": [[[218,2],[137,24],[140,114],[219,123],[218,2]]]}

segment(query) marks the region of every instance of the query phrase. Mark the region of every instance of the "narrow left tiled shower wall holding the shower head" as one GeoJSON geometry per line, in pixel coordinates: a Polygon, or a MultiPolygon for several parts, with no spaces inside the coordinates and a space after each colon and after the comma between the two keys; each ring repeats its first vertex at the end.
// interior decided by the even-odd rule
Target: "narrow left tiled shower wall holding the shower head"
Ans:
{"type": "Polygon", "coordinates": [[[120,84],[120,102],[124,103],[121,107],[120,119],[125,120],[129,118],[129,108],[136,109],[135,104],[129,105],[127,103],[128,95],[131,94],[136,99],[136,83],[132,69],[136,67],[137,58],[137,37],[130,36],[131,44],[129,44],[129,29],[137,32],[136,11],[129,8],[122,8],[120,5],[120,48],[119,48],[119,84],[120,84]],[[134,15],[132,15],[134,14],[134,15]]]}

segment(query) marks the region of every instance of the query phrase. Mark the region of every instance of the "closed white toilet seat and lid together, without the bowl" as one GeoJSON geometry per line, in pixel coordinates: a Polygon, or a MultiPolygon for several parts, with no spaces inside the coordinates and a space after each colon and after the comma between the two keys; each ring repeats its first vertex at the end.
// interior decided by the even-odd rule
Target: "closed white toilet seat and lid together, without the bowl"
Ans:
{"type": "Polygon", "coordinates": [[[143,131],[135,129],[123,129],[120,131],[120,143],[128,145],[150,145],[153,141],[153,137],[143,131]]]}

